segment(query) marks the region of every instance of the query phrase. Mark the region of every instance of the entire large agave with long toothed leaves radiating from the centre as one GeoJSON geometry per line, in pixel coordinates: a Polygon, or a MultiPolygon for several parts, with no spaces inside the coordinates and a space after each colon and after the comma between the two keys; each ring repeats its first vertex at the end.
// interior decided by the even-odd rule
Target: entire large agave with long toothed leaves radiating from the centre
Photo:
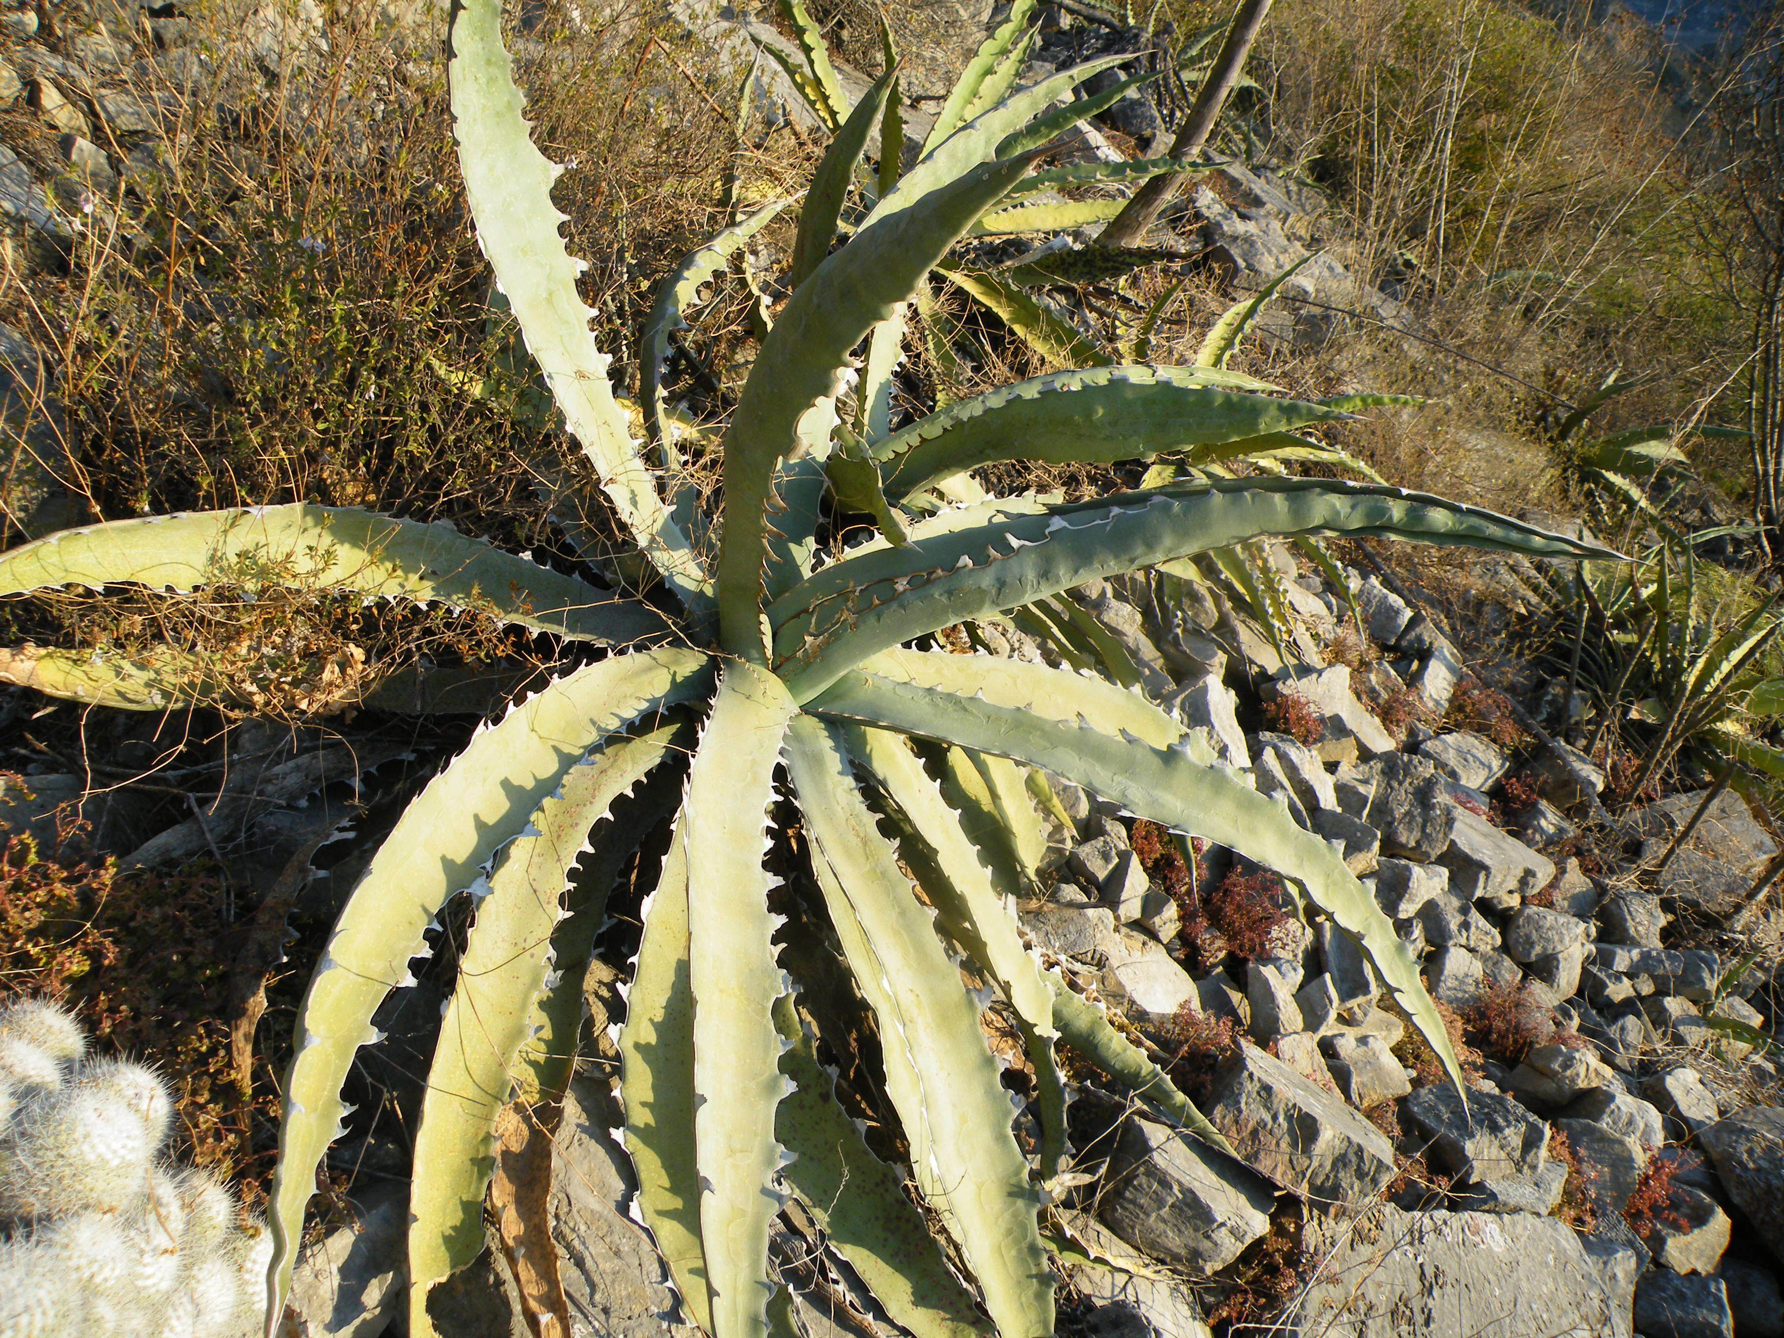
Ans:
{"type": "MultiPolygon", "coordinates": [[[[269,1324],[289,1286],[316,1169],[346,1115],[343,1083],[359,1047],[376,1040],[373,1013],[410,979],[446,901],[475,887],[476,921],[414,1145],[410,1333],[432,1333],[428,1290],[483,1247],[496,1113],[516,1090],[564,1090],[582,963],[607,888],[664,812],[674,812],[673,837],[619,1038],[624,1138],[639,1211],[687,1315],[714,1338],[789,1331],[769,1268],[769,1229],[785,1193],[812,1208],[831,1245],[912,1333],[1051,1334],[1053,1281],[1037,1218],[1065,1149],[1061,1040],[1224,1145],[1101,1006],[1024,944],[1010,894],[1033,872],[1022,853],[1038,833],[1028,789],[1035,771],[1293,880],[1313,910],[1361,942],[1459,1081],[1416,965],[1375,901],[1326,842],[1217,767],[1183,724],[1115,681],[921,648],[942,628],[1033,607],[1094,578],[1265,537],[1381,535],[1613,557],[1379,485],[1213,478],[1049,503],[987,498],[960,478],[1024,458],[1261,458],[1284,442],[1304,450],[1297,428],[1367,407],[1358,398],[1281,398],[1226,371],[1218,348],[1197,368],[1117,364],[1044,376],[894,430],[887,380],[904,305],[956,241],[1033,182],[1047,146],[1104,105],[1070,95],[1108,62],[1029,87],[1015,82],[1031,9],[1019,4],[987,43],[913,166],[899,175],[883,161],[871,193],[855,186],[871,128],[880,125],[890,145],[901,136],[892,75],[851,114],[837,109],[835,141],[801,211],[799,273],[724,426],[724,501],[706,517],[719,535],[710,566],[685,524],[694,503],[673,487],[658,368],[646,371],[642,409],[671,466],[669,487],[646,466],[608,385],[608,359],[591,335],[578,264],[549,198],[557,168],[521,116],[500,0],[469,0],[453,21],[466,189],[526,348],[635,541],[639,560],[626,569],[635,589],[601,591],[444,530],[318,507],[123,521],[0,557],[0,589],[11,592],[116,582],[191,589],[219,549],[227,557],[232,546],[262,544],[307,576],[326,564],[341,589],[444,603],[475,596],[498,617],[580,648],[580,667],[489,721],[412,801],[334,928],[284,1088],[269,1324]],[[860,214],[835,246],[851,196],[860,214]],[[862,348],[860,412],[846,430],[837,405],[862,348]],[[949,505],[937,494],[972,501],[949,505]],[[885,537],[831,553],[814,571],[819,539],[838,514],[869,516],[885,537]],[[878,1020],[892,1106],[881,1117],[910,1149],[910,1179],[949,1236],[946,1256],[903,1197],[903,1176],[869,1154],[833,1099],[814,1024],[796,1006],[799,983],[787,974],[799,963],[778,960],[771,942],[774,880],[764,855],[771,806],[783,794],[801,814],[801,838],[790,846],[808,858],[830,931],[878,1020]],[[981,803],[1003,837],[963,824],[963,803],[981,803]],[[896,838],[881,833],[883,821],[896,838]],[[1012,1129],[1012,1099],[985,1044],[983,999],[963,985],[962,954],[1020,1020],[1037,1074],[1042,1136],[1033,1160],[1012,1129]],[[970,1284],[949,1258],[965,1263],[970,1284]]],[[[817,73],[806,78],[822,86],[817,73]]],[[[683,300],[715,273],[712,250],[671,277],[640,346],[664,346],[662,323],[680,321],[683,300]]],[[[1240,312],[1222,339],[1245,319],[1240,312]]]]}

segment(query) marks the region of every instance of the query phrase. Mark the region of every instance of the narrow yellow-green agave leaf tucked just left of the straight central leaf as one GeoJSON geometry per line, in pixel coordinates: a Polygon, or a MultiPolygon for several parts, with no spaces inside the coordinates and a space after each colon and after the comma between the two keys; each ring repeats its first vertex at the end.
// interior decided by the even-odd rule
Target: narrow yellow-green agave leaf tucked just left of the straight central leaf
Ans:
{"type": "Polygon", "coordinates": [[[639,1177],[639,1215],[689,1317],[712,1333],[694,1147],[685,824],[683,810],[657,890],[644,906],[644,938],[626,992],[626,1026],[619,1033],[619,1092],[626,1104],[626,1152],[639,1177]]]}

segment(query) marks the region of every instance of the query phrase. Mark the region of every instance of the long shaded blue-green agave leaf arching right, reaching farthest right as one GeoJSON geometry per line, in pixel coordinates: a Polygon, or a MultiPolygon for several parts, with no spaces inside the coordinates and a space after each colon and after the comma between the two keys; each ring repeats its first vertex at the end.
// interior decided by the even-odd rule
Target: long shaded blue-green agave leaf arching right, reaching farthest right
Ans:
{"type": "Polygon", "coordinates": [[[849,664],[1094,576],[1270,535],[1381,535],[1532,557],[1609,549],[1461,503],[1370,483],[1220,480],[1049,507],[1044,516],[913,539],[812,574],[769,608],[778,673],[801,701],[849,664]]]}

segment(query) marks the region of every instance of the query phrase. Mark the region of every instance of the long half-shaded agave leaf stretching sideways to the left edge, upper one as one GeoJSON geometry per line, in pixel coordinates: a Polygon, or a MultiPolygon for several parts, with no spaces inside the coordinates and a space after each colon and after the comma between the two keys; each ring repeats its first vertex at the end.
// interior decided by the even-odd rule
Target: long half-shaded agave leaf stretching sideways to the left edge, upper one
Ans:
{"type": "Polygon", "coordinates": [[[301,585],[475,608],[571,640],[617,646],[667,632],[637,599],[503,553],[444,524],[355,507],[253,507],[62,530],[0,553],[0,594],[62,585],[301,585]]]}

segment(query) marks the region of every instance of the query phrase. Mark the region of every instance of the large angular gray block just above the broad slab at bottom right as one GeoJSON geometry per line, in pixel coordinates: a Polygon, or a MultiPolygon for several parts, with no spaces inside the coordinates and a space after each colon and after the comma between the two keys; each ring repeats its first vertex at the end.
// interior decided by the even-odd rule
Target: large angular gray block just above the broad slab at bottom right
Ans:
{"type": "Polygon", "coordinates": [[[1363,1202],[1393,1177],[1374,1124],[1254,1045],[1215,1074],[1202,1113],[1245,1165],[1317,1208],[1363,1202]]]}

